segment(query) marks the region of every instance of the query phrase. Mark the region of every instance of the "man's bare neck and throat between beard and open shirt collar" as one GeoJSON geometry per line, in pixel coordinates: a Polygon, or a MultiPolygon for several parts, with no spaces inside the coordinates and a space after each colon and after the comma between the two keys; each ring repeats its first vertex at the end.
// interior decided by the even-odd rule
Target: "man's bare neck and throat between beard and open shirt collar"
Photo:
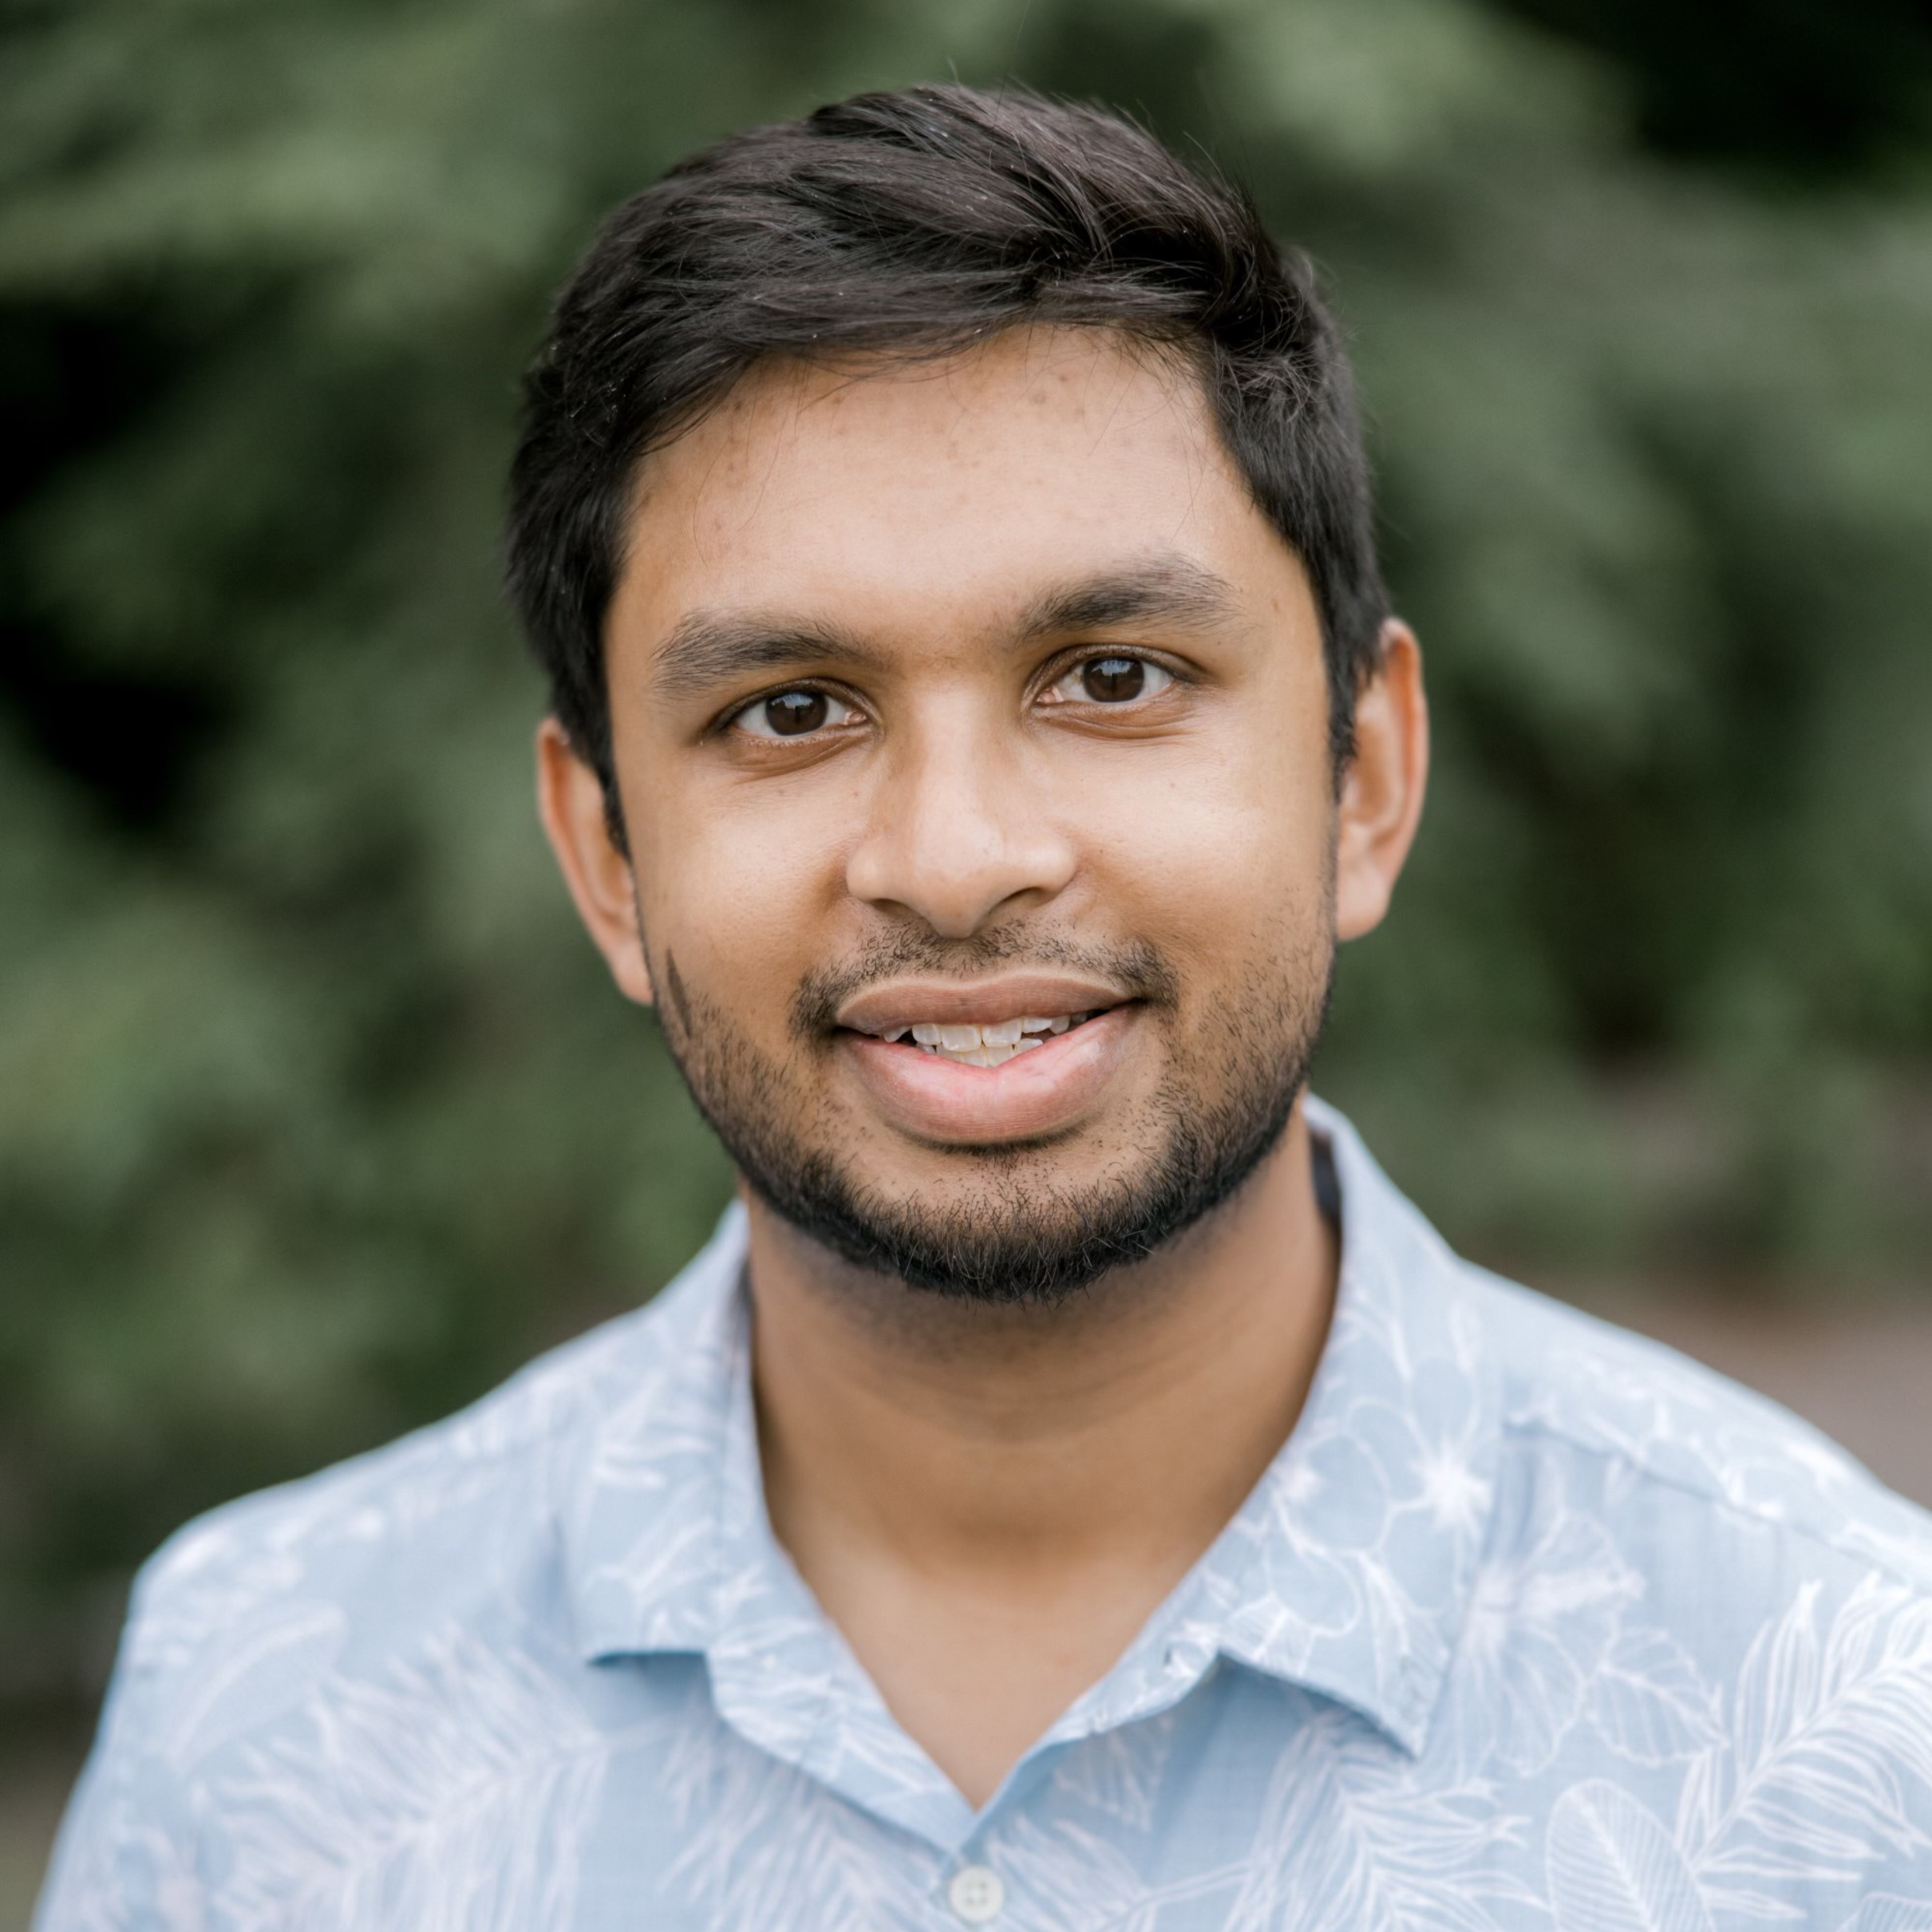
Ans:
{"type": "Polygon", "coordinates": [[[753,1211],[773,1530],[976,1806],[1119,1662],[1291,1434],[1335,1281],[1308,1161],[1296,1115],[1227,1225],[1122,1271],[1163,1279],[1103,1277],[1065,1308],[927,1308],[943,1320],[918,1333],[804,1281],[753,1211]]]}

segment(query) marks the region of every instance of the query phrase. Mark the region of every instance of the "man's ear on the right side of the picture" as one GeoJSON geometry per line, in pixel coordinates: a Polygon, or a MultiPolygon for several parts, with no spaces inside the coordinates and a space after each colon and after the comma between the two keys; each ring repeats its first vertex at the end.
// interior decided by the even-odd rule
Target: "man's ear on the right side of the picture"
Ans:
{"type": "Polygon", "coordinates": [[[1389,618],[1354,707],[1354,757],[1335,833],[1335,937],[1360,939],[1389,910],[1430,777],[1430,705],[1416,634],[1389,618]]]}

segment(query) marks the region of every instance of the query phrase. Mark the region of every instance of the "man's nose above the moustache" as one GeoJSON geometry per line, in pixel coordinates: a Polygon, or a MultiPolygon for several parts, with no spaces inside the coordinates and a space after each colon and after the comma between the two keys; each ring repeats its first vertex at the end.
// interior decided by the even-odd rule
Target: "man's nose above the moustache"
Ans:
{"type": "Polygon", "coordinates": [[[920,732],[889,757],[846,891],[970,939],[1045,904],[1074,875],[1072,840],[1053,823],[1024,759],[995,732],[920,732]]]}

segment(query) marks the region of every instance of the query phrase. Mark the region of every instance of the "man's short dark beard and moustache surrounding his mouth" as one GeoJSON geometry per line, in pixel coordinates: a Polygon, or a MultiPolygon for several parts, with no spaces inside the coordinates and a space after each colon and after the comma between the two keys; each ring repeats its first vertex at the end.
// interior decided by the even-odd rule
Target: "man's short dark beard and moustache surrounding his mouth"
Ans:
{"type": "MultiPolygon", "coordinates": [[[[1144,1262],[1227,1202],[1287,1130],[1327,1018],[1333,918],[1289,933],[1192,1024],[1179,976],[1150,945],[1074,947],[995,929],[968,941],[900,933],[837,970],[808,974],[792,1001],[792,1053],[775,1057],[665,954],[665,1041],[692,1101],[748,1186],[804,1235],[875,1275],[964,1302],[1051,1306],[1144,1262]],[[838,1146],[815,1082],[835,1014],[898,972],[966,978],[1001,964],[1065,966],[1142,1003],[1165,1036],[1165,1072],[1103,1179],[1068,1182],[1066,1136],[949,1150],[962,1186],[945,1200],[889,1198],[838,1146]]],[[[1078,1130],[1076,1130],[1078,1132],[1078,1130]]]]}

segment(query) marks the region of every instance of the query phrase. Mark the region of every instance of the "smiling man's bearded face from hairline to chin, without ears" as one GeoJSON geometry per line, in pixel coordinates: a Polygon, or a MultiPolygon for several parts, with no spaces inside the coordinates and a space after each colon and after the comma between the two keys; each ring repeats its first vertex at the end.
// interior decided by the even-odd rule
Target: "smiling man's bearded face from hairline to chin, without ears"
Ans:
{"type": "Polygon", "coordinates": [[[1279,1140],[1327,684],[1196,379],[1097,330],[755,369],[645,462],[607,665],[643,931],[607,952],[808,1233],[1053,1294],[1279,1140]]]}

